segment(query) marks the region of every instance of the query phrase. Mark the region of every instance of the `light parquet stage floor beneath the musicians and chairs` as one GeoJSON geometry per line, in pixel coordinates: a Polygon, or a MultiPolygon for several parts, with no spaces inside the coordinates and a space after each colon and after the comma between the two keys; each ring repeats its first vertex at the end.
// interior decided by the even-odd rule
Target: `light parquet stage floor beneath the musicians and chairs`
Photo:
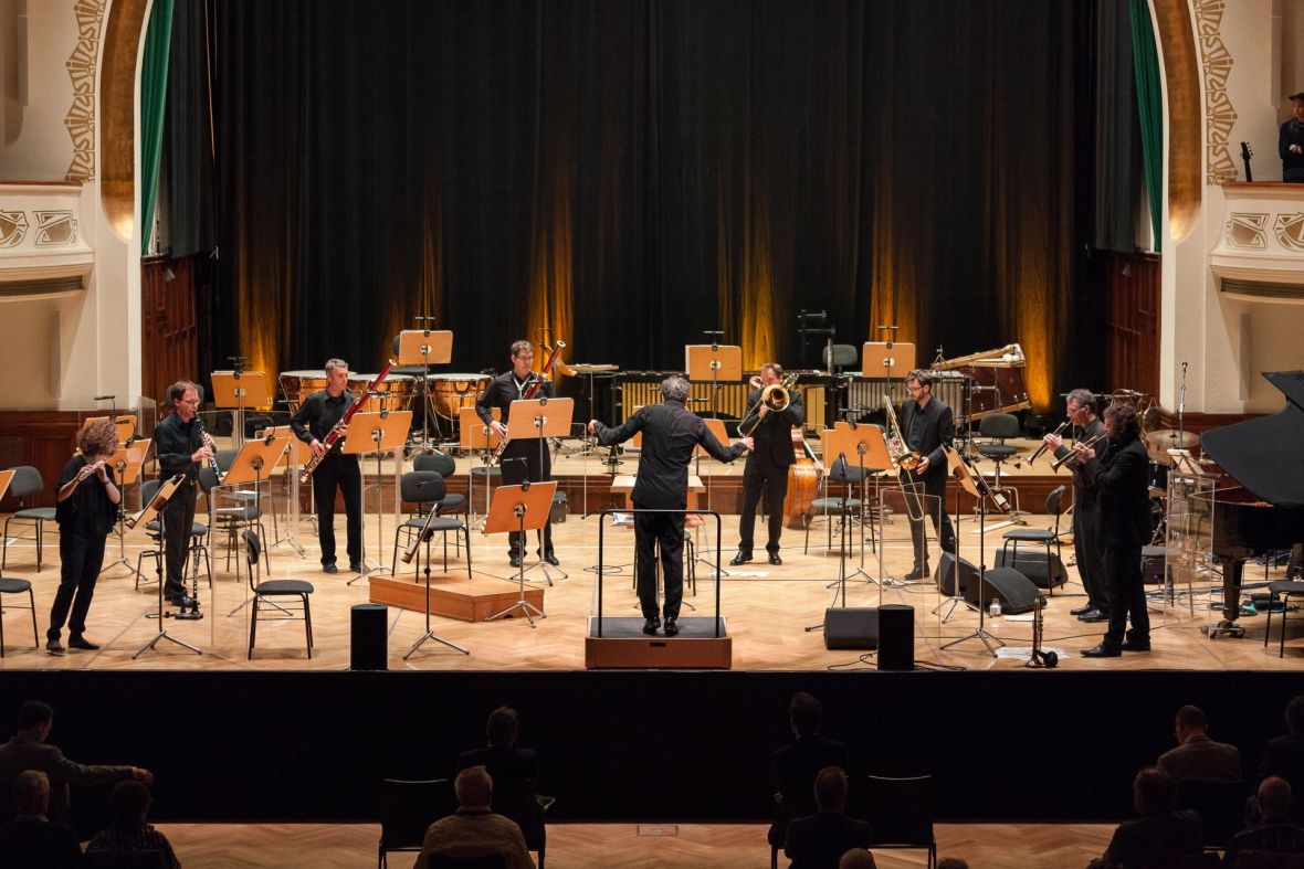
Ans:
{"type": "MultiPolygon", "coordinates": [[[[338,517],[336,538],[340,548],[344,543],[343,517],[338,517]]],[[[389,516],[381,520],[377,537],[374,513],[368,515],[365,546],[369,559],[376,558],[378,546],[383,546],[382,558],[387,563],[393,546],[394,520],[389,516]],[[378,539],[381,543],[378,545],[378,539]]],[[[724,516],[724,545],[721,554],[728,560],[737,543],[737,516],[724,516]]],[[[759,524],[759,522],[758,522],[759,524]]],[[[1046,516],[1031,516],[1033,528],[1048,528],[1046,516]]],[[[213,588],[201,582],[201,602],[205,619],[201,621],[167,620],[170,636],[175,636],[198,646],[203,654],[196,655],[179,646],[162,644],[158,651],[146,651],[138,659],[132,655],[155,636],[158,623],[147,615],[155,610],[155,589],[142,584],[136,589],[130,572],[119,565],[107,571],[99,580],[94,605],[90,610],[87,636],[102,644],[94,653],[78,651],[64,655],[50,655],[44,651],[44,631],[48,623],[50,606],[59,582],[57,532],[51,529],[46,537],[46,562],[39,573],[35,572],[35,546],[30,537],[14,539],[9,547],[9,567],[7,576],[30,578],[37,594],[37,621],[40,632],[42,649],[31,646],[31,621],[26,611],[14,608],[18,595],[5,595],[5,651],[0,661],[3,668],[87,668],[87,670],[130,670],[130,668],[184,668],[184,670],[344,670],[349,664],[349,607],[368,601],[368,582],[353,578],[347,572],[335,576],[319,571],[317,541],[312,525],[306,520],[300,524],[301,539],[306,546],[305,556],[296,556],[288,546],[273,550],[270,565],[271,578],[300,577],[316,586],[312,595],[313,631],[316,651],[309,661],[304,653],[304,629],[297,621],[259,621],[258,648],[253,661],[245,658],[245,642],[249,631],[249,607],[241,607],[248,597],[248,586],[226,568],[220,539],[215,541],[214,562],[216,576],[213,588]],[[233,612],[233,614],[232,614],[233,612]]],[[[961,525],[961,555],[971,562],[978,560],[978,524],[965,517],[961,525]]],[[[270,529],[269,529],[270,530],[270,529]]],[[[764,529],[758,528],[760,539],[764,529]]],[[[986,535],[986,562],[992,565],[999,548],[1001,529],[988,530],[986,535]]],[[[485,537],[472,532],[472,555],[475,581],[485,588],[515,589],[506,558],[506,541],[501,537],[485,537]]],[[[632,560],[632,530],[627,528],[608,528],[608,564],[629,564],[632,560]]],[[[854,558],[849,562],[852,571],[859,564],[859,535],[852,534],[854,558]]],[[[562,559],[562,569],[569,578],[556,580],[556,585],[545,589],[545,610],[548,618],[536,629],[522,619],[507,619],[494,623],[466,623],[443,618],[433,618],[432,628],[441,637],[463,645],[471,650],[469,657],[446,650],[437,644],[426,644],[409,661],[402,655],[425,631],[420,612],[389,610],[389,666],[393,670],[572,670],[584,666],[584,634],[587,619],[596,612],[596,575],[585,569],[597,562],[599,520],[570,516],[566,522],[554,526],[556,547],[562,559]]],[[[825,548],[827,529],[819,520],[810,533],[810,552],[802,552],[803,534],[795,530],[784,533],[784,564],[771,567],[764,562],[764,551],[758,550],[760,560],[745,568],[733,569],[720,584],[721,611],[729,620],[734,637],[734,670],[748,671],[814,671],[838,666],[861,666],[857,654],[828,651],[824,649],[819,631],[807,632],[806,625],[818,624],[824,608],[833,601],[833,590],[827,588],[838,576],[838,548],[835,537],[832,550],[825,548]]],[[[133,532],[126,538],[126,558],[134,564],[137,554],[147,543],[143,534],[133,532]]],[[[715,533],[700,538],[703,554],[716,559],[715,533]]],[[[885,539],[882,546],[883,564],[879,556],[866,546],[866,571],[875,578],[889,575],[902,576],[910,567],[909,528],[901,519],[885,526],[885,539]]],[[[439,567],[441,547],[433,547],[436,567],[439,567]]],[[[343,552],[342,552],[343,555],[343,552]]],[[[450,546],[451,555],[451,546],[450,546]]],[[[936,546],[934,545],[934,555],[936,546]]],[[[1064,550],[1069,560],[1072,548],[1064,550]]],[[[117,558],[116,539],[110,539],[107,559],[117,558]]],[[[346,559],[347,560],[347,559],[346,559]]],[[[402,567],[402,564],[400,564],[402,567]]],[[[153,580],[153,571],[146,569],[153,580]]],[[[466,564],[450,560],[449,572],[466,577],[466,564]]],[[[705,564],[698,567],[699,582],[696,594],[691,591],[686,601],[696,607],[696,615],[711,615],[715,610],[716,584],[713,569],[705,564]]],[[[1094,645],[1103,633],[1103,625],[1089,625],[1068,614],[1072,607],[1084,602],[1081,586],[1076,581],[1076,569],[1069,568],[1072,581],[1056,590],[1046,607],[1045,645],[1064,653],[1063,668],[1072,670],[1304,670],[1304,642],[1297,631],[1292,629],[1286,644],[1286,657],[1278,658],[1277,633],[1265,649],[1262,616],[1244,618],[1241,624],[1247,636],[1241,640],[1209,640],[1202,627],[1217,620],[1218,612],[1210,611],[1210,602],[1221,602],[1218,580],[1211,578],[1204,588],[1197,588],[1193,611],[1181,594],[1176,603],[1159,599],[1151,602],[1154,651],[1149,654],[1128,654],[1118,659],[1088,661],[1078,657],[1081,649],[1094,645]],[[1209,594],[1210,589],[1215,589],[1209,594]]],[[[1247,573],[1256,580],[1262,576],[1262,567],[1251,565],[1247,573]]],[[[412,568],[406,577],[412,577],[412,568]]],[[[1279,576],[1275,572],[1274,576],[1279,576]]],[[[542,580],[541,571],[532,571],[532,580],[542,580]]],[[[438,576],[436,584],[438,584],[438,576]]],[[[1185,591],[1185,589],[1179,589],[1185,591]]],[[[630,571],[626,567],[619,573],[609,573],[605,578],[605,615],[636,616],[635,597],[630,588],[630,571]]],[[[846,603],[849,606],[874,606],[878,603],[908,603],[915,614],[915,659],[927,667],[956,667],[969,670],[1013,670],[1022,667],[1022,658],[992,658],[982,642],[971,638],[949,650],[940,646],[951,640],[965,637],[977,627],[977,616],[964,607],[957,607],[953,618],[941,623],[932,610],[940,603],[935,585],[930,582],[904,588],[887,586],[866,581],[865,576],[853,577],[846,584],[846,603]]],[[[694,615],[687,607],[685,615],[694,615]]],[[[1274,619],[1274,621],[1277,621],[1274,619]]],[[[1275,625],[1274,625],[1275,627],[1275,625]]],[[[987,629],[1015,648],[1028,648],[1031,637],[1030,615],[1003,618],[995,623],[987,621],[987,629]]],[[[67,638],[67,637],[65,637],[67,638]]]]}

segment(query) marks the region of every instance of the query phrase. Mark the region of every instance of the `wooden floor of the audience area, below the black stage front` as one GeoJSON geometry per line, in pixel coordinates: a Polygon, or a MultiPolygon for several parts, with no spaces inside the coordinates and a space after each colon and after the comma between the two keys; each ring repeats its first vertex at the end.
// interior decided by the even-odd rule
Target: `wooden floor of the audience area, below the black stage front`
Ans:
{"type": "MultiPolygon", "coordinates": [[[[370,823],[163,823],[186,869],[376,865],[379,827],[370,823]]],[[[548,827],[553,869],[763,869],[769,865],[764,825],[561,823],[548,827]]],[[[935,827],[939,857],[964,857],[971,869],[1080,869],[1108,844],[1112,825],[944,823],[935,827]]],[[[923,851],[878,849],[883,869],[923,866],[923,851]]],[[[415,853],[394,852],[393,869],[415,853]]],[[[788,861],[780,855],[780,865],[788,861]]]]}

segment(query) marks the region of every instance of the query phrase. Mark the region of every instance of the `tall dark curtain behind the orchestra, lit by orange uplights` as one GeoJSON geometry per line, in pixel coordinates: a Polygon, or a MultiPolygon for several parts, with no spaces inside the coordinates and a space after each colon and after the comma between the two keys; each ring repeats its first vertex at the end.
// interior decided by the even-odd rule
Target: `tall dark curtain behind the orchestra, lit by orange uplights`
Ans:
{"type": "MultiPolygon", "coordinates": [[[[724,328],[798,358],[1022,344],[1038,405],[1088,314],[1091,3],[216,0],[215,357],[452,370],[541,327],[674,370],[724,328]]],[[[192,46],[192,50],[194,47],[192,46]]],[[[537,357],[537,358],[541,358],[537,357]]]]}

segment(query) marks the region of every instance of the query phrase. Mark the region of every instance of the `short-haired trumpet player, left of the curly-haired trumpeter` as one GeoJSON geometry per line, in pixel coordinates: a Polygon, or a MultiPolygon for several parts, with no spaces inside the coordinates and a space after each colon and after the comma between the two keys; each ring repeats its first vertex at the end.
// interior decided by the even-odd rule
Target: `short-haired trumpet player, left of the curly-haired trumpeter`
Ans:
{"type": "MultiPolygon", "coordinates": [[[[1095,416],[1095,396],[1090,390],[1073,390],[1068,393],[1068,421],[1078,442],[1093,438],[1099,442],[1104,434],[1104,423],[1095,416]]],[[[1042,440],[1056,459],[1069,459],[1073,453],[1058,434],[1048,434],[1042,440]]],[[[1086,589],[1086,603],[1069,612],[1082,621],[1106,621],[1110,618],[1110,598],[1104,588],[1104,563],[1101,560],[1098,492],[1081,465],[1073,461],[1065,464],[1073,469],[1073,554],[1082,588],[1086,589]]]]}

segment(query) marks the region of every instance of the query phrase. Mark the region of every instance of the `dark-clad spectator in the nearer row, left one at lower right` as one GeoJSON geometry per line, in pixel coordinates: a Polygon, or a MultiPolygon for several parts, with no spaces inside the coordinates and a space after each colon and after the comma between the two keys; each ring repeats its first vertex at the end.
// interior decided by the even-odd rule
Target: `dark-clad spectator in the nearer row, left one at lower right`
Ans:
{"type": "Polygon", "coordinates": [[[1176,860],[1204,853],[1200,816],[1172,808],[1176,783],[1161,769],[1148,767],[1132,780],[1136,821],[1124,821],[1114,831],[1104,855],[1089,869],[1142,869],[1151,861],[1176,860]]]}

